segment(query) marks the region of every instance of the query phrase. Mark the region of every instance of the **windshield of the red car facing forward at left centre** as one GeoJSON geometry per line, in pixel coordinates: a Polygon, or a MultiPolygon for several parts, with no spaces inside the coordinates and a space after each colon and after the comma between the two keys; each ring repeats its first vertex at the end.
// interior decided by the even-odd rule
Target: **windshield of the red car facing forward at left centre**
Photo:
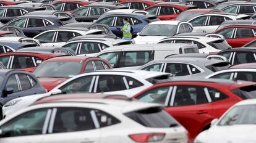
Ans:
{"type": "Polygon", "coordinates": [[[37,77],[70,78],[79,75],[82,68],[80,62],[44,62],[33,72],[37,77]]]}

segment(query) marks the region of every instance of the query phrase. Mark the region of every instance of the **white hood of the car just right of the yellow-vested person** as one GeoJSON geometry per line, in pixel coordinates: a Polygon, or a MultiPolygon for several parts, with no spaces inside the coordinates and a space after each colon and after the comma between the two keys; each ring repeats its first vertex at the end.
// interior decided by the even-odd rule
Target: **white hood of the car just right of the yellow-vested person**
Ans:
{"type": "Polygon", "coordinates": [[[137,36],[134,38],[135,44],[154,44],[167,36],[137,36]]]}

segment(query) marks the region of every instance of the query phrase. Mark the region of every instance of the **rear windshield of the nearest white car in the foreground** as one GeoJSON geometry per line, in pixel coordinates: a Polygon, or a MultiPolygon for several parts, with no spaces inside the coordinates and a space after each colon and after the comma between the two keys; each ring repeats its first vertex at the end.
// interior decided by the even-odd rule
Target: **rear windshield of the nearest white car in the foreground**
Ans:
{"type": "Polygon", "coordinates": [[[125,113],[124,115],[128,116],[140,125],[151,128],[169,128],[179,126],[177,121],[160,107],[147,108],[125,113]]]}

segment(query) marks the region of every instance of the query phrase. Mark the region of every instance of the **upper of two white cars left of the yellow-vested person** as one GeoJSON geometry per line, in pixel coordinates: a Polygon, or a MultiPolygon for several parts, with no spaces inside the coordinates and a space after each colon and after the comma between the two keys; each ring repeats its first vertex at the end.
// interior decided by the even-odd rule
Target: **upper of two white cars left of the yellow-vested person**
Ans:
{"type": "Polygon", "coordinates": [[[33,37],[33,39],[40,41],[42,46],[61,47],[72,37],[89,35],[99,31],[101,30],[87,30],[82,28],[79,30],[79,28],[60,27],[53,30],[44,31],[33,37]]]}

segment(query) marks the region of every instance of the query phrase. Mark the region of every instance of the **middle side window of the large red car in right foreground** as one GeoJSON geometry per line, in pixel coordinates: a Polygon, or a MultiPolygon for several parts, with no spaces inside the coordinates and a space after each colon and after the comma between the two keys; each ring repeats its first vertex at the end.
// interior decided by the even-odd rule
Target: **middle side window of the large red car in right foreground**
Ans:
{"type": "Polygon", "coordinates": [[[203,86],[177,86],[173,106],[208,103],[203,86]]]}

